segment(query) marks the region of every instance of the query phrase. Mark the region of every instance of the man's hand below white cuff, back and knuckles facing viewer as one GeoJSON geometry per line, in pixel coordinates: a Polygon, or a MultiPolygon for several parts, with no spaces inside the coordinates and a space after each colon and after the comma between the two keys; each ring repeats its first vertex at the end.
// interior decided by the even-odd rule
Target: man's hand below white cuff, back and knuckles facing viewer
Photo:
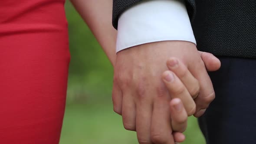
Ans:
{"type": "MultiPolygon", "coordinates": [[[[181,98],[188,115],[195,111],[195,116],[202,115],[215,97],[205,65],[193,43],[164,41],[118,52],[112,95],[114,111],[122,115],[125,129],[137,131],[140,144],[152,144],[152,141],[172,144],[174,141],[168,107],[171,96],[161,80],[162,73],[167,70],[165,62],[170,57],[180,59],[190,76],[195,78],[189,85],[184,84],[187,92],[181,98]],[[190,87],[192,84],[199,86],[190,87]]],[[[181,82],[187,75],[175,74],[181,82]]],[[[174,94],[183,90],[179,89],[174,94]]]]}

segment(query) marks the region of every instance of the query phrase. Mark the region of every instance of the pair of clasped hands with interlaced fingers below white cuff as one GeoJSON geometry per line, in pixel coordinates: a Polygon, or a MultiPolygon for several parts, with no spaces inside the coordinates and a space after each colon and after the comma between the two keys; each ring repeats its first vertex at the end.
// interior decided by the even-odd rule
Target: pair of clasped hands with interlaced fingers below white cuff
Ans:
{"type": "Polygon", "coordinates": [[[112,100],[140,144],[184,141],[187,116],[203,115],[215,98],[207,74],[220,61],[184,41],[148,43],[118,52],[112,100]]]}

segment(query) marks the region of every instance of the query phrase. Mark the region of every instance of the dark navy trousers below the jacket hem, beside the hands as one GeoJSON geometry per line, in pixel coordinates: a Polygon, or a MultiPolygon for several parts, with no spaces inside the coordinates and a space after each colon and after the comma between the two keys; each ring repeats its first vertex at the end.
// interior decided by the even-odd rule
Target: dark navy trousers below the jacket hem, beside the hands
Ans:
{"type": "Polygon", "coordinates": [[[207,144],[256,144],[256,59],[218,57],[216,98],[198,119],[207,144]]]}

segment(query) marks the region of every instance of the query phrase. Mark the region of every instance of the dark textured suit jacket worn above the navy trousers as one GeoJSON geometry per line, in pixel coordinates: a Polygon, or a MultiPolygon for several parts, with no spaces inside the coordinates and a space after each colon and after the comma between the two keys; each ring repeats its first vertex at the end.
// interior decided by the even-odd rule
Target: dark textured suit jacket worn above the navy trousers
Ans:
{"type": "MultiPolygon", "coordinates": [[[[118,16],[141,0],[113,0],[118,16]]],[[[256,58],[256,0],[186,0],[197,49],[217,56],[256,58]]]]}

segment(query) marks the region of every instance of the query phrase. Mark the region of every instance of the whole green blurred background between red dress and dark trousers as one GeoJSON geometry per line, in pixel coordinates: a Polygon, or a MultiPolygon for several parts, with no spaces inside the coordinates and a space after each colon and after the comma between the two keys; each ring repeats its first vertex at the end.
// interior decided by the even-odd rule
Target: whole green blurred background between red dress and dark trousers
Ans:
{"type": "MultiPolygon", "coordinates": [[[[113,68],[90,29],[66,2],[71,63],[60,144],[138,144],[112,110],[113,68]]],[[[197,119],[189,118],[183,144],[205,144],[197,119]]]]}

